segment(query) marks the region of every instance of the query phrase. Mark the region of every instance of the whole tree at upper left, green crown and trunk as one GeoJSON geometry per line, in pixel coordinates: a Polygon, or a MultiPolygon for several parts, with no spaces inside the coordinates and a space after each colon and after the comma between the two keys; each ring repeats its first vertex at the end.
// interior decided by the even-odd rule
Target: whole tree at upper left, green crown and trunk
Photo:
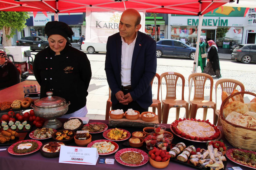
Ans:
{"type": "Polygon", "coordinates": [[[0,11],[0,28],[3,28],[3,47],[12,46],[11,38],[16,34],[16,29],[21,31],[26,27],[28,12],[0,11]]]}

